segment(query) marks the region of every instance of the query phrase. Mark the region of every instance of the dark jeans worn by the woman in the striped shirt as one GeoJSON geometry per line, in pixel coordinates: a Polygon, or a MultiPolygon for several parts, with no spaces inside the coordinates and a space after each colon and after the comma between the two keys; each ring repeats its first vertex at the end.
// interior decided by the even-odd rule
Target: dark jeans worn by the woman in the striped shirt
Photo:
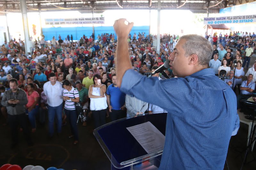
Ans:
{"type": "Polygon", "coordinates": [[[68,110],[68,109],[64,109],[64,110],[69,120],[71,135],[74,135],[75,140],[78,140],[78,130],[76,125],[76,120],[77,120],[76,110],[68,110]]]}

